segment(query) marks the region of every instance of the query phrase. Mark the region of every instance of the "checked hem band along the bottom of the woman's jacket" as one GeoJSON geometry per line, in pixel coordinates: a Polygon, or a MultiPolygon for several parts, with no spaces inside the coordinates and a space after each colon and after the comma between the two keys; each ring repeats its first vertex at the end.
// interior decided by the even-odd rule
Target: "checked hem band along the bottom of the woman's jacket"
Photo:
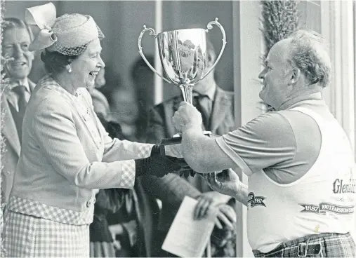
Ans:
{"type": "Polygon", "coordinates": [[[60,222],[64,224],[83,225],[91,224],[93,222],[95,197],[92,196],[88,201],[88,210],[78,212],[75,210],[66,210],[38,201],[33,201],[17,196],[11,196],[7,209],[13,212],[20,212],[25,215],[32,215],[34,217],[41,217],[49,219],[53,222],[60,222]]]}

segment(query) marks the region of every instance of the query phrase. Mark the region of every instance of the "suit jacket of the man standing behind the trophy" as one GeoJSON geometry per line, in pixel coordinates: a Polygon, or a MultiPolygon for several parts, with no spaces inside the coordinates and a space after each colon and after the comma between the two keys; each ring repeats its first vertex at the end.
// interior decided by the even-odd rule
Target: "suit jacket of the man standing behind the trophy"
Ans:
{"type": "MultiPolygon", "coordinates": [[[[173,127],[172,117],[182,101],[182,96],[173,97],[150,111],[147,142],[159,144],[161,139],[178,133],[173,127]]],[[[211,111],[210,128],[205,128],[205,130],[210,130],[216,135],[223,135],[235,128],[233,93],[217,87],[211,111]]],[[[185,196],[197,198],[202,192],[211,191],[204,179],[197,175],[185,179],[170,173],[162,178],[142,177],[142,181],[145,191],[162,201],[159,229],[163,231],[168,231],[185,196]]]]}

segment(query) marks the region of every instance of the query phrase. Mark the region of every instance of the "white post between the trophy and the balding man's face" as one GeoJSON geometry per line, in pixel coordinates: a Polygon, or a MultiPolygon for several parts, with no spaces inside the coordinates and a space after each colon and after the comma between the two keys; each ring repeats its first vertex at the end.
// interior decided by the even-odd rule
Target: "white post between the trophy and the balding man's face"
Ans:
{"type": "MultiPolygon", "coordinates": [[[[234,82],[235,82],[235,118],[237,126],[244,125],[261,114],[258,93],[261,83],[261,54],[263,37],[259,18],[261,6],[259,1],[235,1],[232,8],[234,20],[234,82]],[[238,13],[238,15],[236,15],[238,13]]],[[[239,172],[239,177],[248,184],[247,177],[239,172]]],[[[247,239],[246,212],[244,205],[237,213],[237,257],[253,257],[247,239]]]]}

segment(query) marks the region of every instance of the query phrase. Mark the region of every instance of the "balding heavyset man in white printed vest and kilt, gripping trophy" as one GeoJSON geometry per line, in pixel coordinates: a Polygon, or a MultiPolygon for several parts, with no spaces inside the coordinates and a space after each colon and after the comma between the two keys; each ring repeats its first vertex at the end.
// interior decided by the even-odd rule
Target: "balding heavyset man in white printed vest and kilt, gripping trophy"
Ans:
{"type": "Polygon", "coordinates": [[[276,111],[216,139],[204,137],[199,112],[183,103],[173,123],[183,156],[198,171],[238,165],[214,189],[248,206],[249,243],[256,257],[355,257],[356,171],[348,137],[322,100],[331,62],[315,32],[298,31],[265,60],[261,99],[276,111]],[[194,143],[194,144],[193,144],[194,143]],[[249,193],[249,194],[247,194],[249,193]]]}

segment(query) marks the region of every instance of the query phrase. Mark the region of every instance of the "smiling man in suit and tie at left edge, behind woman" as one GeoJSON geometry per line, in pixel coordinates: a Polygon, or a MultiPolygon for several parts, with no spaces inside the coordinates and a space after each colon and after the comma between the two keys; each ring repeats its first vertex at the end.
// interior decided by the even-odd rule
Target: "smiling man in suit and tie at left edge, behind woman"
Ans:
{"type": "Polygon", "coordinates": [[[28,50],[32,41],[31,30],[24,21],[17,18],[4,19],[2,27],[4,29],[2,55],[8,59],[4,70],[6,78],[10,80],[1,102],[1,110],[5,111],[1,134],[4,136],[6,148],[4,156],[1,157],[3,165],[1,191],[7,203],[13,185],[13,173],[20,156],[22,119],[35,84],[27,78],[34,60],[34,53],[28,50]]]}

